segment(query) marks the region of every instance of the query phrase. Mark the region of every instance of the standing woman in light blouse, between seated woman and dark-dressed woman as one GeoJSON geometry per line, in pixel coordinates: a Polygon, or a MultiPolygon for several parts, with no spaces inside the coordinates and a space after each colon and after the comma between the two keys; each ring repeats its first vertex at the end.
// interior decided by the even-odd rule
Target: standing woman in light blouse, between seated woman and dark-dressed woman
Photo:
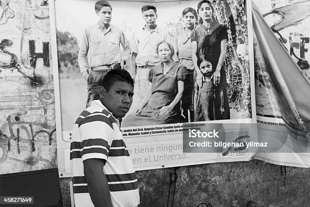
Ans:
{"type": "Polygon", "coordinates": [[[176,37],[173,39],[173,47],[175,53],[173,60],[180,62],[186,67],[187,75],[184,80],[184,92],[182,97],[183,115],[186,120],[193,121],[193,74],[194,65],[192,63],[192,46],[190,36],[192,30],[195,28],[197,22],[197,12],[195,9],[188,7],[182,12],[183,29],[178,31],[176,37]]]}

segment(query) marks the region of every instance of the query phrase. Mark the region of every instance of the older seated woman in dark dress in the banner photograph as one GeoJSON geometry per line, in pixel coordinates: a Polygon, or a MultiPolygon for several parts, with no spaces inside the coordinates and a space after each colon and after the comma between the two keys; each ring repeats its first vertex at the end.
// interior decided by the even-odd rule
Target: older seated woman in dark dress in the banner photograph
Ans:
{"type": "Polygon", "coordinates": [[[122,121],[122,127],[171,124],[184,122],[181,116],[180,100],[184,90],[186,68],[172,61],[174,49],[165,41],[157,45],[157,54],[161,59],[148,75],[152,83],[149,95],[140,107],[122,121]]]}

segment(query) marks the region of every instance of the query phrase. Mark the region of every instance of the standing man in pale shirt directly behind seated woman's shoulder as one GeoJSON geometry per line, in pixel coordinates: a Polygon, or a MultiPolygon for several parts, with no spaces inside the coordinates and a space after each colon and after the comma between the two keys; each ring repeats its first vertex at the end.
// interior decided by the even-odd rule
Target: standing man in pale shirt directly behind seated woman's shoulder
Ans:
{"type": "Polygon", "coordinates": [[[146,5],[141,8],[145,25],[134,33],[131,45],[132,68],[135,80],[135,97],[131,111],[139,107],[141,100],[150,91],[151,83],[148,81],[148,73],[152,66],[158,65],[161,60],[156,53],[157,45],[162,42],[171,42],[167,31],[160,29],[156,24],[156,7],[146,5]]]}

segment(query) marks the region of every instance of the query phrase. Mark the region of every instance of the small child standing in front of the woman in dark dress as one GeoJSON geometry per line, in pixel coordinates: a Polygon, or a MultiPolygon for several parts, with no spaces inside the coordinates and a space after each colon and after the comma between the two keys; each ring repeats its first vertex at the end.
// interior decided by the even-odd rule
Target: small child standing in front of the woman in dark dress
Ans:
{"type": "Polygon", "coordinates": [[[195,119],[194,121],[214,120],[214,84],[212,63],[204,58],[200,63],[202,87],[195,87],[195,119]]]}

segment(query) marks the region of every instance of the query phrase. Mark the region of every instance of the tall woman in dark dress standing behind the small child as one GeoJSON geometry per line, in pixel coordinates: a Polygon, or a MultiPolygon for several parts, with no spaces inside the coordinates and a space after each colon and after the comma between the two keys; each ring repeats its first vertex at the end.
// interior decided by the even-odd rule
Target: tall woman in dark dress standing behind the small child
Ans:
{"type": "Polygon", "coordinates": [[[226,89],[226,73],[223,67],[227,30],[224,25],[217,22],[214,16],[214,8],[210,1],[203,0],[198,3],[200,25],[193,29],[191,34],[192,60],[197,72],[196,83],[202,87],[203,75],[199,65],[202,56],[208,56],[208,61],[213,65],[214,81],[214,119],[230,119],[229,103],[226,89]]]}

